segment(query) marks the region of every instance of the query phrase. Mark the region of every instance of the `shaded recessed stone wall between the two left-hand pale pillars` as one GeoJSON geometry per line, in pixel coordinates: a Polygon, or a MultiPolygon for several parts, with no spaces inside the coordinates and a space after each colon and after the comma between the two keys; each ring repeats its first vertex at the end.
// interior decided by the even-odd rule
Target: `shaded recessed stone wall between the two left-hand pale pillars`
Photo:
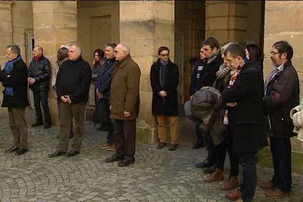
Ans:
{"type": "Polygon", "coordinates": [[[118,1],[78,1],[78,43],[82,57],[92,64],[93,51],[119,42],[118,1]]]}

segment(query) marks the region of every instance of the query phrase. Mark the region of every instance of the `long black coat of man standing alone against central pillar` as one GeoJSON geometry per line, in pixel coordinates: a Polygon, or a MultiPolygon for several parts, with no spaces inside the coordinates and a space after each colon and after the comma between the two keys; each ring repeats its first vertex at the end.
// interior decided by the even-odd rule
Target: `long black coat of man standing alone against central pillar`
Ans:
{"type": "Polygon", "coordinates": [[[160,59],[151,66],[150,85],[153,88],[153,100],[151,103],[151,112],[155,115],[177,116],[178,115],[178,82],[179,69],[170,60],[167,67],[167,76],[164,81],[164,87],[160,85],[160,59]],[[167,92],[166,97],[161,97],[159,92],[167,92]]]}

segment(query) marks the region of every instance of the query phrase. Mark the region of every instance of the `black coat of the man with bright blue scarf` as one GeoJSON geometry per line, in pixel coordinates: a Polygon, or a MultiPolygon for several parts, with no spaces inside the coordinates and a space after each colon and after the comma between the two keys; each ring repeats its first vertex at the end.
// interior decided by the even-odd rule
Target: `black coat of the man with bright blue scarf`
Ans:
{"type": "Polygon", "coordinates": [[[5,71],[0,71],[0,81],[5,87],[13,87],[13,96],[3,92],[2,107],[25,108],[28,106],[27,98],[27,66],[23,60],[13,63],[13,71],[10,77],[5,71]]]}

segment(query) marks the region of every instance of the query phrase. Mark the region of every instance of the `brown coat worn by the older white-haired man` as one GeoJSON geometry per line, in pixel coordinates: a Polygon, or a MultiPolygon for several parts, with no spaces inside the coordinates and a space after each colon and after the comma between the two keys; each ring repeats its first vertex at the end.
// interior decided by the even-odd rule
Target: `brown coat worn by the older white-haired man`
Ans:
{"type": "Polygon", "coordinates": [[[128,55],[114,67],[111,83],[111,118],[133,120],[139,113],[139,82],[140,68],[128,55]],[[123,112],[131,113],[125,117],[123,112]]]}

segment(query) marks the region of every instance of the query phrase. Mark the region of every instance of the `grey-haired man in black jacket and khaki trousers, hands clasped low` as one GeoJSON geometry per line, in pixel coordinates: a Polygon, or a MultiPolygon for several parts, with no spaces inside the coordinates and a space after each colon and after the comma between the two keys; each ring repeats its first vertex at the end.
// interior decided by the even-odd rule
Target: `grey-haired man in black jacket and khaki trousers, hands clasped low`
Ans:
{"type": "Polygon", "coordinates": [[[89,64],[81,57],[79,45],[70,45],[68,60],[63,62],[56,80],[56,91],[61,99],[61,126],[58,148],[49,158],[79,154],[84,135],[84,110],[91,80],[89,64]],[[72,118],[75,119],[74,143],[67,153],[72,118]]]}

